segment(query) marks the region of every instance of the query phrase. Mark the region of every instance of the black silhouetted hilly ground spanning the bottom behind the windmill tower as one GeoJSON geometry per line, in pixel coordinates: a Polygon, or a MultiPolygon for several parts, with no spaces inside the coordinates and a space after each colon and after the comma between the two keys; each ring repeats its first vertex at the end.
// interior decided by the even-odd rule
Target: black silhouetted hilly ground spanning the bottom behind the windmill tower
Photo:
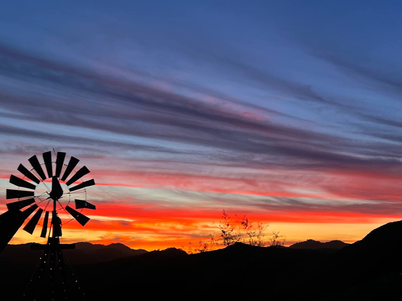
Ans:
{"type": "MultiPolygon", "coordinates": [[[[66,295],[55,300],[242,296],[248,300],[401,300],[400,233],[402,221],[381,226],[341,249],[236,243],[192,255],[175,248],[146,252],[121,244],[79,243],[77,250],[65,251],[71,264],[67,269],[70,285],[66,295]]],[[[39,256],[41,251],[30,250],[29,244],[4,249],[0,254],[2,300],[21,299],[39,256]]]]}

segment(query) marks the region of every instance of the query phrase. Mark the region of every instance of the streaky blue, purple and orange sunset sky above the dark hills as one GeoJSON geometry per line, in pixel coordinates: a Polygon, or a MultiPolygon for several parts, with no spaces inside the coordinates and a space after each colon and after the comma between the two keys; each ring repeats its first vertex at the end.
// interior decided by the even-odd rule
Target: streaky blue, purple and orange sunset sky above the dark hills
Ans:
{"type": "MultiPolygon", "coordinates": [[[[64,242],[186,246],[222,209],[286,244],[402,215],[398,1],[12,1],[0,11],[0,212],[52,150],[96,186],[64,242]]],[[[37,227],[39,228],[39,227],[37,227]]],[[[19,230],[10,243],[45,243],[19,230]]]]}

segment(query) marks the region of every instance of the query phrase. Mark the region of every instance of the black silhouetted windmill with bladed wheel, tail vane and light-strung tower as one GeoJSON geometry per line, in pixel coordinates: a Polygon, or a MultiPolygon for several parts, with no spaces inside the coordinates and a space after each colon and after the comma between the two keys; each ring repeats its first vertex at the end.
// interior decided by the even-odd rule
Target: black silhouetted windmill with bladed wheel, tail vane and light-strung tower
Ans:
{"type": "Polygon", "coordinates": [[[44,162],[42,164],[39,163],[36,155],[28,159],[32,166],[30,170],[22,164],[18,166],[17,170],[22,173],[22,178],[15,175],[10,176],[10,183],[17,186],[18,189],[7,189],[6,199],[18,200],[7,203],[8,211],[0,215],[0,252],[21,228],[25,220],[35,212],[23,230],[33,234],[35,227],[38,224],[41,225],[40,236],[42,238],[47,236],[47,243],[31,245],[33,250],[43,250],[43,255],[40,257],[40,263],[23,299],[66,300],[68,299],[66,292],[68,280],[62,250],[74,249],[75,244],[60,244],[62,225],[75,219],[85,226],[89,218],[82,214],[82,210],[85,208],[96,209],[95,205],[86,201],[86,187],[95,185],[95,182],[94,179],[82,180],[82,177],[90,171],[85,166],[75,171],[74,168],[79,162],[75,157],[70,157],[68,164],[64,164],[66,157],[64,152],[57,152],[55,161],[52,161],[51,151],[43,153],[42,157],[44,162]],[[42,169],[43,165],[47,175],[42,169]],[[55,167],[54,173],[53,167],[55,167]],[[24,188],[24,190],[20,188],[24,188]],[[75,209],[70,207],[72,198],[74,198],[75,209]],[[50,223],[49,212],[51,212],[50,223]],[[64,223],[59,217],[59,213],[64,215],[64,223]],[[47,279],[46,282],[49,284],[45,288],[43,285],[41,286],[44,279],[47,279]],[[40,286],[41,290],[39,290],[40,286]]]}

